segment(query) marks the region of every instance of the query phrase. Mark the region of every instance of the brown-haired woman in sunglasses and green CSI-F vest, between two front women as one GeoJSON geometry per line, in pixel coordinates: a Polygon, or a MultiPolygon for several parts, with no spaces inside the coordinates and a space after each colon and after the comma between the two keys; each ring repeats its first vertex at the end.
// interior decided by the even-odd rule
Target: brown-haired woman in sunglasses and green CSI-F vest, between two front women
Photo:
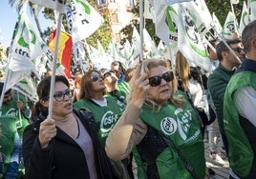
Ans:
{"type": "MultiPolygon", "coordinates": [[[[113,96],[104,96],[106,86],[103,82],[104,77],[97,70],[86,72],[80,84],[80,93],[78,100],[74,103],[75,109],[90,109],[96,120],[98,136],[101,144],[105,146],[105,141],[109,132],[119,119],[122,113],[123,105],[117,102],[113,96]]],[[[116,165],[123,169],[120,178],[125,179],[128,176],[127,169],[120,161],[116,165]]]]}

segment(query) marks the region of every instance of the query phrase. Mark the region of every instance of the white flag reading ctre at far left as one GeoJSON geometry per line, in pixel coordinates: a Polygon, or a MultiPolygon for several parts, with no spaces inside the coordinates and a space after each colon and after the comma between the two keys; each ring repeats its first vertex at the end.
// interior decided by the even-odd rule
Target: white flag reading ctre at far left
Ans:
{"type": "Polygon", "coordinates": [[[32,59],[43,53],[42,41],[32,28],[27,10],[28,3],[24,3],[18,16],[15,35],[11,44],[7,89],[10,89],[24,77],[30,76],[32,71],[39,77],[32,59]]]}

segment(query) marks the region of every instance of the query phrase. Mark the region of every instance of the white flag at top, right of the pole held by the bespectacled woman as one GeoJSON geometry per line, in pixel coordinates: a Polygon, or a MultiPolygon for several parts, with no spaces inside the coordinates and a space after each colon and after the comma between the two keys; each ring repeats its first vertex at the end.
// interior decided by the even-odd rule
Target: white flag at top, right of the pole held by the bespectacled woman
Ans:
{"type": "Polygon", "coordinates": [[[74,43],[90,36],[104,22],[100,14],[85,0],[71,0],[71,6],[66,5],[65,10],[74,43]]]}

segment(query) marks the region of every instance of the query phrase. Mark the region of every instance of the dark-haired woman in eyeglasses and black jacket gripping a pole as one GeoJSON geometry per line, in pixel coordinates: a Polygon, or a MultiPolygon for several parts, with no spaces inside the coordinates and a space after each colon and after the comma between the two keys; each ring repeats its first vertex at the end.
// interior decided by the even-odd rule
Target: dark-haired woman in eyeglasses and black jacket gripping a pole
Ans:
{"type": "Polygon", "coordinates": [[[24,131],[25,178],[114,178],[91,112],[73,109],[69,81],[55,76],[52,118],[48,116],[50,88],[51,76],[37,86],[33,122],[24,131]]]}

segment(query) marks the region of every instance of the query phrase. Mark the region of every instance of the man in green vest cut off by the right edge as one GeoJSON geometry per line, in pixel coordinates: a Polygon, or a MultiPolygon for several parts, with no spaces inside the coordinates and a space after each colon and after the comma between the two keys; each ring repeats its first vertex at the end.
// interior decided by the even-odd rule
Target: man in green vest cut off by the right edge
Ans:
{"type": "Polygon", "coordinates": [[[256,178],[256,20],[242,34],[245,59],[224,94],[230,178],[256,178]]]}

